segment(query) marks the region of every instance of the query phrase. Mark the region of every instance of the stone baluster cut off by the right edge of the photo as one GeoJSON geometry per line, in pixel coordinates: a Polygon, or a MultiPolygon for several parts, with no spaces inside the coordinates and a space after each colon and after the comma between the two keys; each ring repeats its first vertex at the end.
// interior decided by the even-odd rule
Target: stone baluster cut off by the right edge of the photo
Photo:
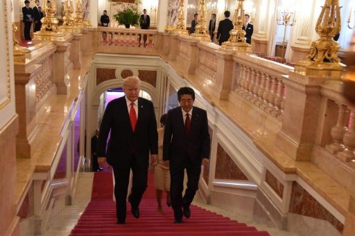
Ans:
{"type": "Polygon", "coordinates": [[[345,131],[343,137],[343,143],[345,145],[345,149],[343,152],[338,153],[338,157],[343,161],[352,161],[355,160],[355,108],[352,108],[352,113],[349,118],[349,127],[347,131],[345,131]]]}

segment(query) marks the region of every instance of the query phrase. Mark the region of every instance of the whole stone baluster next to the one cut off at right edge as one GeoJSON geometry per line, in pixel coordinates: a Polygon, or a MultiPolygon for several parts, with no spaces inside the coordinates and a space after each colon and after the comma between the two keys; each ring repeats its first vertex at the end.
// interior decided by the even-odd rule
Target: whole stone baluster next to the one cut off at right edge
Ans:
{"type": "Polygon", "coordinates": [[[333,138],[334,142],[331,145],[325,145],[325,149],[327,149],[332,154],[336,154],[337,152],[343,152],[345,146],[343,144],[343,137],[345,131],[347,131],[347,127],[345,124],[345,115],[347,114],[347,107],[342,104],[338,104],[338,120],[336,121],[336,126],[331,128],[331,138],[333,138]]]}

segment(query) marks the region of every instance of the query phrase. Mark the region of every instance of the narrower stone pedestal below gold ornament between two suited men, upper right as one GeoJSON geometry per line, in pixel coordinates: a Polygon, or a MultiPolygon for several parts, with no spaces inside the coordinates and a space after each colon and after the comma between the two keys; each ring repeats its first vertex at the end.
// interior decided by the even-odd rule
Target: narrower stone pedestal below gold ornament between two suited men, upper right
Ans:
{"type": "Polygon", "coordinates": [[[234,66],[233,61],[234,51],[220,49],[216,51],[217,71],[216,82],[213,93],[220,100],[228,100],[232,87],[232,71],[234,66]]]}

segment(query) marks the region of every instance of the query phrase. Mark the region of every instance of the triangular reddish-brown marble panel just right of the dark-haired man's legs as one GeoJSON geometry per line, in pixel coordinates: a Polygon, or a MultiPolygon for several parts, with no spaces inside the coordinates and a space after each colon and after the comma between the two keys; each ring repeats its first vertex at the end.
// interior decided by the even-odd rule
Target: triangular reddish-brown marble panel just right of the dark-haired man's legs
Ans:
{"type": "Polygon", "coordinates": [[[248,177],[239,169],[225,149],[218,143],[216,161],[216,179],[248,180],[248,177]]]}

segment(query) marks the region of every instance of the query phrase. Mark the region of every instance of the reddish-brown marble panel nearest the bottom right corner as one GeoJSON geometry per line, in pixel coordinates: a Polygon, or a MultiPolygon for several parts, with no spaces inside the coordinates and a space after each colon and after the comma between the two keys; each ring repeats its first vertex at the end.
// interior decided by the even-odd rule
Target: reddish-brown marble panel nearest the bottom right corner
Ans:
{"type": "Polygon", "coordinates": [[[343,232],[344,225],[341,224],[334,215],[331,215],[327,209],[325,209],[297,182],[293,182],[292,184],[289,212],[328,221],[340,233],[343,232]]]}

